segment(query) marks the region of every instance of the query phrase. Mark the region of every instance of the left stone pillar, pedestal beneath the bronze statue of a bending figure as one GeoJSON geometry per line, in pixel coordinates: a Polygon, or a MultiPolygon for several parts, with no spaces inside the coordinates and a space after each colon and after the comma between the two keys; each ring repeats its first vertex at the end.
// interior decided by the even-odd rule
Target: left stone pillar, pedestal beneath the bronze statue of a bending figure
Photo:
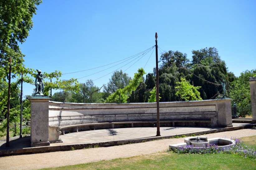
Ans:
{"type": "Polygon", "coordinates": [[[31,147],[49,146],[49,97],[31,97],[31,147]]]}

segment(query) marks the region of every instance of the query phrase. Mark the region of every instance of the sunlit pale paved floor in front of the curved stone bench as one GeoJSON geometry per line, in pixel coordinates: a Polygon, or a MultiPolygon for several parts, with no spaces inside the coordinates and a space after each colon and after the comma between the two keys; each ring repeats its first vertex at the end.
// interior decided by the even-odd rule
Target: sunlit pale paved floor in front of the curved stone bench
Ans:
{"type": "MultiPolygon", "coordinates": [[[[233,123],[233,126],[244,125],[245,123],[233,123]]],[[[205,132],[219,129],[217,127],[160,127],[161,136],[182,135],[186,133],[205,132]]],[[[70,145],[84,143],[99,143],[109,141],[135,140],[152,138],[156,136],[156,127],[133,127],[102,129],[94,131],[74,132],[61,135],[63,143],[51,145],[70,145]]]]}

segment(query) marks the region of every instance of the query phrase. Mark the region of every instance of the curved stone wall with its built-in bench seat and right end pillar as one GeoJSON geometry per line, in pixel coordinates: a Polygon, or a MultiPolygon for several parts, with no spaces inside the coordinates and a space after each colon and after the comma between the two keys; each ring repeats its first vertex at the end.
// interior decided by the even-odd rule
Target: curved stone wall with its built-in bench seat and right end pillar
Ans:
{"type": "MultiPolygon", "coordinates": [[[[49,102],[49,125],[64,135],[96,129],[154,127],[156,103],[49,102]]],[[[231,127],[231,99],[160,102],[160,126],[231,127]]]]}

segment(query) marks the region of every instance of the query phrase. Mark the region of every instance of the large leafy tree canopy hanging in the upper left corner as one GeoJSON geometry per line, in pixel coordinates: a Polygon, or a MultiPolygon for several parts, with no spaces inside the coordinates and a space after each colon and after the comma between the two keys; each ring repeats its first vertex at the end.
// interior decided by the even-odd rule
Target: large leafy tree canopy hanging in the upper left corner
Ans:
{"type": "Polygon", "coordinates": [[[24,43],[33,27],[32,17],[41,0],[0,1],[0,78],[6,80],[9,58],[12,57],[12,78],[22,72],[24,54],[19,43],[24,43]]]}

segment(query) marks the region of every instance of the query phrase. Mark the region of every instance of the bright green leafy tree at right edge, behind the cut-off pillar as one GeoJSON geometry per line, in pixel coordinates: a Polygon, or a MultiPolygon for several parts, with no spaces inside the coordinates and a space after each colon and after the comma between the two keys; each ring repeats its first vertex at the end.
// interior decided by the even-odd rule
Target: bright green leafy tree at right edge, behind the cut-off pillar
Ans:
{"type": "Polygon", "coordinates": [[[249,77],[256,77],[256,69],[244,71],[230,84],[230,98],[236,103],[241,117],[252,114],[249,77]]]}

